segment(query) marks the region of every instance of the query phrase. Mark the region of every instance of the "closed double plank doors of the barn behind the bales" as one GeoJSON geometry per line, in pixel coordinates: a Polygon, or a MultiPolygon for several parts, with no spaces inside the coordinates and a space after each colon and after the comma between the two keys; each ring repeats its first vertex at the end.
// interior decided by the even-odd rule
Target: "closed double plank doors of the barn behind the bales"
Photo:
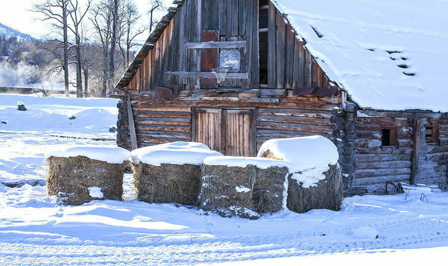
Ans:
{"type": "Polygon", "coordinates": [[[224,155],[255,156],[255,119],[255,110],[198,108],[192,139],[224,155]]]}

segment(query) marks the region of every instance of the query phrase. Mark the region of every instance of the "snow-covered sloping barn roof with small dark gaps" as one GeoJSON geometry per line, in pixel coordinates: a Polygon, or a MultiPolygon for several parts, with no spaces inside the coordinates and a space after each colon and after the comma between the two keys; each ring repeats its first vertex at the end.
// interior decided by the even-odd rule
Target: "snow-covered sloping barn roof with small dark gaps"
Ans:
{"type": "Polygon", "coordinates": [[[448,112],[447,0],[272,2],[360,107],[448,112]]]}

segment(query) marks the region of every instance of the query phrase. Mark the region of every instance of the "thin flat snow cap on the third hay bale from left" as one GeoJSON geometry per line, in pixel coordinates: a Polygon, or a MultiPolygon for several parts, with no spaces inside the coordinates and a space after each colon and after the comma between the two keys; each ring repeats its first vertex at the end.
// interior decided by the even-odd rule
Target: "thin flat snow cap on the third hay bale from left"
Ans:
{"type": "Polygon", "coordinates": [[[286,161],[273,160],[262,157],[235,157],[235,156],[222,156],[222,157],[207,157],[204,160],[204,164],[207,165],[223,165],[228,167],[246,167],[247,165],[255,165],[260,169],[267,169],[269,167],[287,167],[292,169],[292,165],[286,161]]]}

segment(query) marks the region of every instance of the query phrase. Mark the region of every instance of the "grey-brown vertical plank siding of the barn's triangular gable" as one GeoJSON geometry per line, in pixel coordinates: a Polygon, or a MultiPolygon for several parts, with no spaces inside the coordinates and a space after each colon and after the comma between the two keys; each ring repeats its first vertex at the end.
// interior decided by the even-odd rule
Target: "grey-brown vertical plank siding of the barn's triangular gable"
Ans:
{"type": "MultiPolygon", "coordinates": [[[[151,91],[166,83],[181,84],[177,77],[165,77],[167,71],[200,70],[200,52],[185,49],[186,42],[199,41],[202,30],[218,30],[220,40],[246,40],[241,51],[240,72],[248,72],[248,80],[226,80],[222,87],[258,89],[259,73],[259,1],[258,0],[185,0],[160,33],[154,47],[138,54],[142,62],[126,89],[130,93],[151,91]],[[200,10],[200,12],[198,11],[200,10]],[[198,18],[198,14],[201,18],[198,18]],[[198,24],[200,23],[200,24],[198,24]]],[[[318,61],[306,49],[285,17],[272,3],[268,11],[268,88],[330,88],[328,77],[318,61]]],[[[188,78],[187,84],[198,85],[188,78]]],[[[188,87],[190,89],[190,87],[188,87]]]]}

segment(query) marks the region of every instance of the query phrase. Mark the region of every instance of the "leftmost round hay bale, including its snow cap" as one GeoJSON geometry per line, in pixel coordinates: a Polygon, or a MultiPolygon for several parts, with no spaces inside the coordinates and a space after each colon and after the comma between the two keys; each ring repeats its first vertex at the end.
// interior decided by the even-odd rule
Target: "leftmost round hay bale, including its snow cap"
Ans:
{"type": "Polygon", "coordinates": [[[119,147],[57,146],[46,153],[47,193],[61,203],[122,200],[123,174],[130,152],[119,147]]]}

